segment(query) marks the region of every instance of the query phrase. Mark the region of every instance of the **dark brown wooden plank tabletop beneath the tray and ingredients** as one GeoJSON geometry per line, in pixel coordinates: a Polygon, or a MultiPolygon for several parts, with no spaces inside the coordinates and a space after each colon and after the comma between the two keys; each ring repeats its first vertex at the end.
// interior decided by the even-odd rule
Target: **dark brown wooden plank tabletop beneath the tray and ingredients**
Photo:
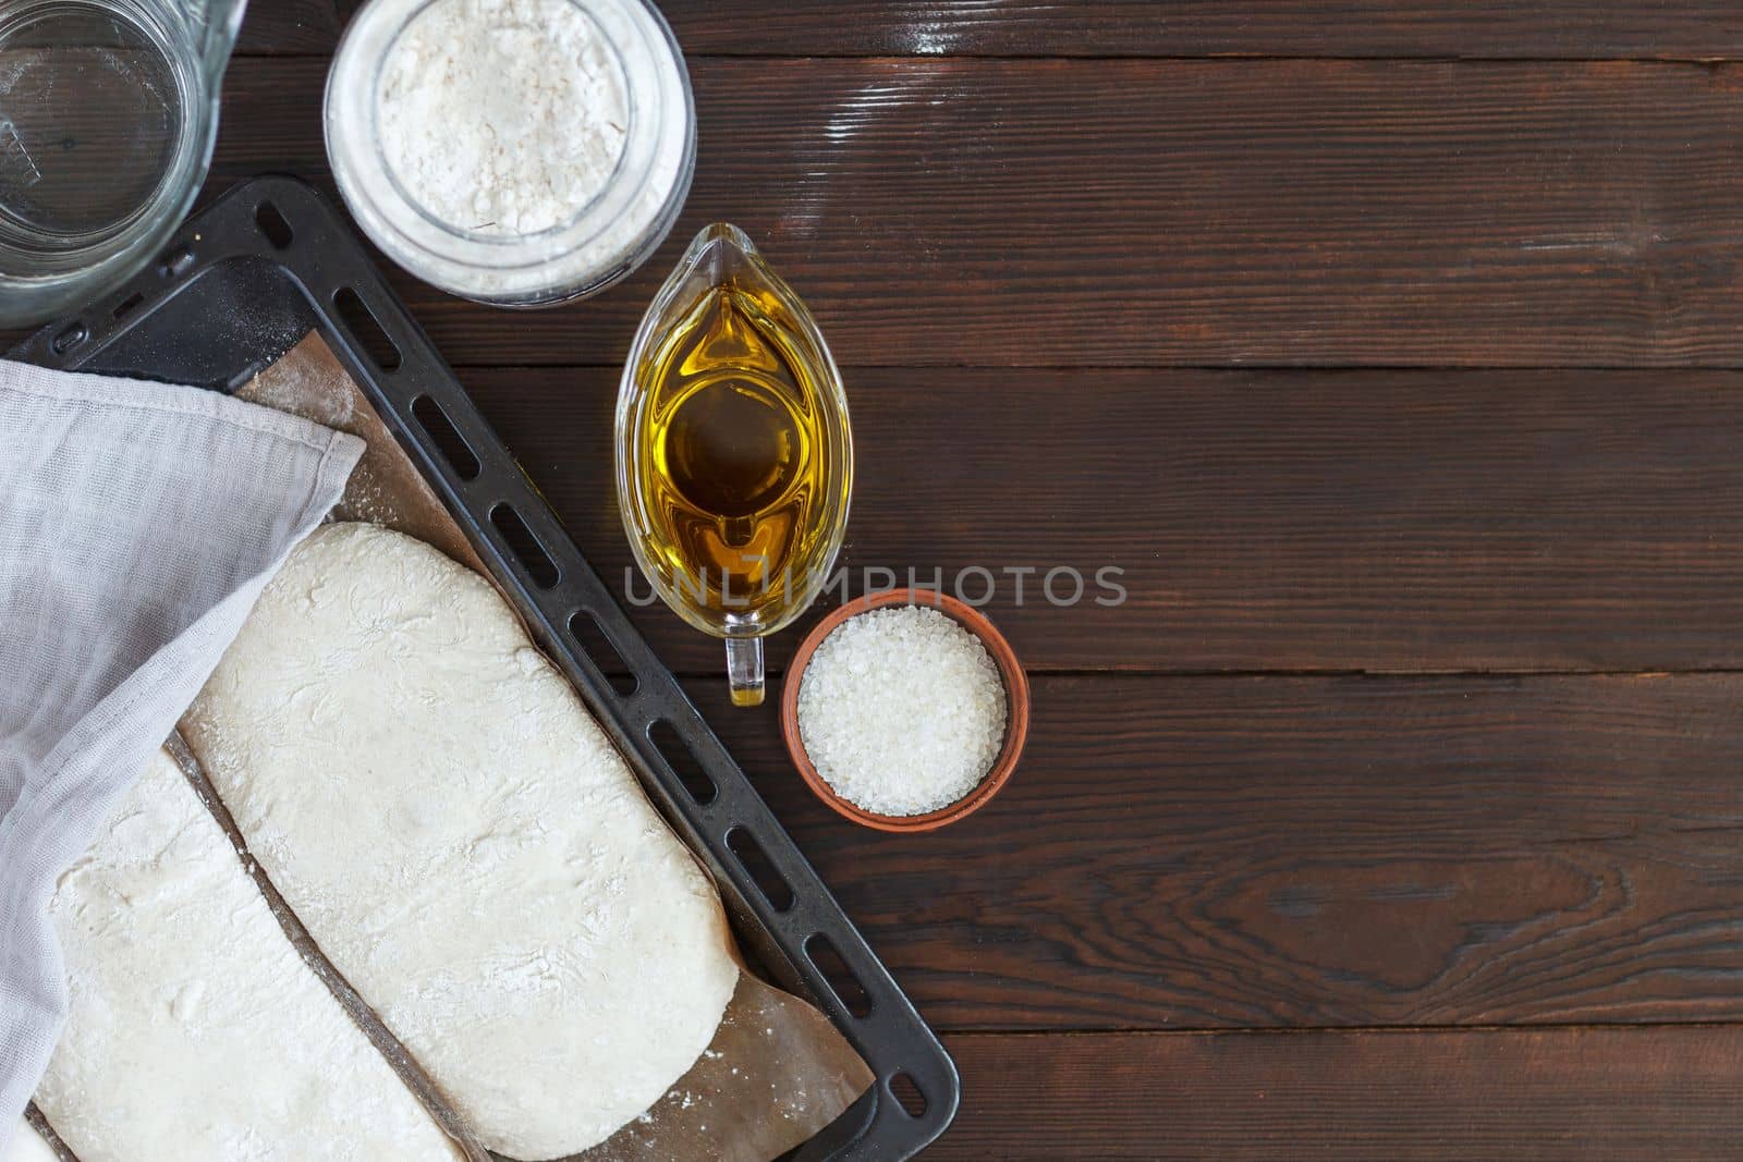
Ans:
{"type": "MultiPolygon", "coordinates": [[[[396,284],[617,578],[617,369],[732,220],[845,371],[844,563],[999,575],[1028,754],[920,838],[638,611],[946,1035],[929,1157],[1736,1157],[1743,7],[664,9],[661,254],[535,315],[396,284]]],[[[340,23],[256,0],[214,192],[331,188],[340,23]]]]}

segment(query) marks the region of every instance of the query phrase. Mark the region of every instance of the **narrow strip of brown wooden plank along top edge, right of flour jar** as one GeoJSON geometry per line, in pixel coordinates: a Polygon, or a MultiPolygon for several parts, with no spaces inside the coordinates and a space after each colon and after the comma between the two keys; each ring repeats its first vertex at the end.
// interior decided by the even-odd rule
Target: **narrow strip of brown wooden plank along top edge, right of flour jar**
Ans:
{"type": "Polygon", "coordinates": [[[788,56],[1464,56],[1736,57],[1743,19],[1720,0],[666,0],[685,52],[788,56]]]}

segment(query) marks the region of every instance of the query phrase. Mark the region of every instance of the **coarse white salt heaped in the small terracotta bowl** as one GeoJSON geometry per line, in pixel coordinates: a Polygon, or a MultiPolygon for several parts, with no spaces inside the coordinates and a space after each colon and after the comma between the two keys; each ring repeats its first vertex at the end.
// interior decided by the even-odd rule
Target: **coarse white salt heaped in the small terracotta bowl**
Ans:
{"type": "Polygon", "coordinates": [[[798,686],[798,735],[837,794],[924,815],[980,786],[1004,747],[1006,692],[987,646],[926,606],[851,617],[798,686]]]}

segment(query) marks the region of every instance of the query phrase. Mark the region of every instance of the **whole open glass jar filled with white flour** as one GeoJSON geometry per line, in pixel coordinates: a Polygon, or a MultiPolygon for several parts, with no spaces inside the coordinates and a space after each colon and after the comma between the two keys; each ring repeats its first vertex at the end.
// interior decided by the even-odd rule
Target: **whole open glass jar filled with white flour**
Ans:
{"type": "Polygon", "coordinates": [[[396,263],[481,303],[547,307],[664,240],[695,106],[645,0],[373,0],[333,59],[326,145],[396,263]]]}

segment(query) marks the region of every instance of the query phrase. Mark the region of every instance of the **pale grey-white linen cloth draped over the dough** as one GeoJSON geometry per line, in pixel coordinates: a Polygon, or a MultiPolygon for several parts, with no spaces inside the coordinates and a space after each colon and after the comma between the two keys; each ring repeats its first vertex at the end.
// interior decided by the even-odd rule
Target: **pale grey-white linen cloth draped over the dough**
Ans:
{"type": "Polygon", "coordinates": [[[56,880],[359,455],[216,392],[0,361],[0,1157],[66,1016],[56,880]]]}

